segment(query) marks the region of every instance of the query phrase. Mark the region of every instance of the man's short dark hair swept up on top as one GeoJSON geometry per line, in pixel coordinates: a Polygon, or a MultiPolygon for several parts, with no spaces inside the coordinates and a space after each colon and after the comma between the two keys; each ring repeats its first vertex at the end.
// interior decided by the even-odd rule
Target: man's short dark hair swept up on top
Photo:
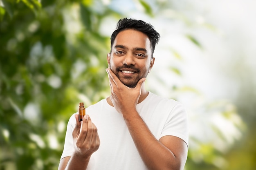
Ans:
{"type": "Polygon", "coordinates": [[[150,40],[151,44],[151,49],[152,49],[152,57],[153,53],[155,51],[155,45],[159,42],[160,34],[155,31],[154,26],[146,23],[142,20],[135,20],[135,19],[120,19],[117,22],[117,28],[116,30],[112,33],[111,38],[110,38],[110,43],[111,43],[111,50],[112,50],[112,44],[115,41],[115,38],[117,37],[117,34],[120,33],[121,31],[124,31],[126,29],[133,29],[137,31],[141,31],[142,33],[146,34],[150,40]]]}

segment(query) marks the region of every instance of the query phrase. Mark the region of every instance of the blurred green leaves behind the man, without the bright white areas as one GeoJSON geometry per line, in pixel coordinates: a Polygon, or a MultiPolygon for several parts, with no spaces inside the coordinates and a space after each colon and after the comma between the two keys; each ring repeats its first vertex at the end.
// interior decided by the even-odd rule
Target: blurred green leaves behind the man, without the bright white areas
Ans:
{"type": "MultiPolygon", "coordinates": [[[[148,16],[156,15],[146,0],[135,2],[148,16]]],[[[167,4],[159,2],[158,10],[167,4]]],[[[107,17],[117,21],[123,15],[101,0],[0,1],[0,170],[57,169],[65,127],[78,103],[89,106],[109,94],[110,40],[99,31],[107,17]]],[[[174,18],[189,22],[179,13],[174,18]]],[[[192,35],[184,36],[203,48],[192,35]]],[[[170,70],[182,76],[179,68],[170,70]]],[[[198,95],[188,86],[172,90],[198,95]]],[[[203,105],[207,112],[218,107],[203,105]]],[[[236,114],[219,110],[222,116],[236,114]]],[[[187,169],[222,169],[214,162],[225,161],[223,152],[211,142],[191,141],[196,147],[189,150],[187,169]]]]}

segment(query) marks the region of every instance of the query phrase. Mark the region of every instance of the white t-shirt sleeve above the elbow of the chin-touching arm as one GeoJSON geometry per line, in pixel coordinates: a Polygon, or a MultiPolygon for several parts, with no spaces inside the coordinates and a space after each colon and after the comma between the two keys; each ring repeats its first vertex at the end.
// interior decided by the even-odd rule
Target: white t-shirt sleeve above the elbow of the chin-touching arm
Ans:
{"type": "MultiPolygon", "coordinates": [[[[176,101],[172,101],[176,102],[176,101]]],[[[188,118],[186,110],[179,102],[170,110],[161,137],[171,135],[184,140],[189,146],[188,118]]]]}

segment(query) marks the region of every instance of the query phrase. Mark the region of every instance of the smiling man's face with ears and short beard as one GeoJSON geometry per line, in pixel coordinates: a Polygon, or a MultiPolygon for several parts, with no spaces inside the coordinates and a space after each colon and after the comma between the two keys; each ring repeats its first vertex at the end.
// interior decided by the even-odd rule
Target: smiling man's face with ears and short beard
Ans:
{"type": "Polygon", "coordinates": [[[108,67],[124,85],[134,88],[153,67],[155,58],[151,56],[147,35],[131,29],[124,30],[117,35],[111,54],[108,54],[108,67]]]}

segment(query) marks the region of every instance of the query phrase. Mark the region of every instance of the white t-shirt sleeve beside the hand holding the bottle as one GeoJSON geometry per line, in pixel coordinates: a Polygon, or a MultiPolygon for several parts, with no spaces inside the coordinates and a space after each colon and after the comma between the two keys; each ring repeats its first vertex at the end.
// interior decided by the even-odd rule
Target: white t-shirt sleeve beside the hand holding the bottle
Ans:
{"type": "Polygon", "coordinates": [[[64,157],[71,156],[74,151],[73,137],[72,132],[74,130],[74,126],[76,124],[75,113],[70,117],[67,123],[67,131],[65,136],[64,149],[61,155],[61,159],[64,157]]]}

